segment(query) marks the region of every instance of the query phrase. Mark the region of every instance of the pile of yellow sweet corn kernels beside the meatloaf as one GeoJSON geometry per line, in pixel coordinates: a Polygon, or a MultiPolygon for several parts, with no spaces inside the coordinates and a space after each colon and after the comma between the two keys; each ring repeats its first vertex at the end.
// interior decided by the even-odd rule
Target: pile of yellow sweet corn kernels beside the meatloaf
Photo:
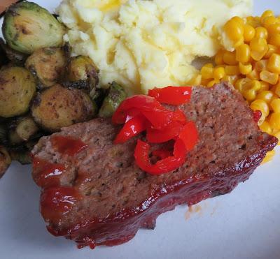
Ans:
{"type": "MultiPolygon", "coordinates": [[[[262,131],[280,140],[280,17],[266,10],[260,17],[232,17],[224,26],[234,51],[221,49],[215,66],[202,67],[201,84],[230,81],[252,110],[260,110],[262,131]]],[[[275,151],[264,162],[272,160],[275,151]]]]}

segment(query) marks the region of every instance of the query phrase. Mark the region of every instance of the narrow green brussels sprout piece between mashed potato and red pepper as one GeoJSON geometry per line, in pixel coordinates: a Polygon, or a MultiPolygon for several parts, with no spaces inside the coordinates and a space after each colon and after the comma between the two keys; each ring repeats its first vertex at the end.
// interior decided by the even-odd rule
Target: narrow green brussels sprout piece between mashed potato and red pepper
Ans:
{"type": "Polygon", "coordinates": [[[125,98],[127,98],[125,89],[120,84],[113,82],[99,110],[99,117],[111,117],[125,98]]]}

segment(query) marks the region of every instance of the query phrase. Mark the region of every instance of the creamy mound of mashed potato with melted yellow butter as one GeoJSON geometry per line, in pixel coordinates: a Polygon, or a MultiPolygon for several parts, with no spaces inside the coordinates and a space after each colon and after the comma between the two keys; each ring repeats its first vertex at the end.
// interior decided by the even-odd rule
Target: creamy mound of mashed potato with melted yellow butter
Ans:
{"type": "Polygon", "coordinates": [[[64,0],[57,11],[73,54],[89,56],[100,69],[101,87],[116,81],[130,93],[146,93],[188,84],[198,73],[195,57],[214,56],[225,42],[223,24],[250,15],[252,2],[64,0]]]}

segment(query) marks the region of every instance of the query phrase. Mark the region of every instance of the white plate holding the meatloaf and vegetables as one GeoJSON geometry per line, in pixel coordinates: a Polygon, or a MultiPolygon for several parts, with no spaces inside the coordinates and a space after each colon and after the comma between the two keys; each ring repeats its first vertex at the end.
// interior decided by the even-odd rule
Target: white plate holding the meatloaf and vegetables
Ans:
{"type": "MultiPolygon", "coordinates": [[[[1,0],[0,0],[1,1],[1,0]]],[[[200,0],[197,0],[200,1],[200,0]]],[[[36,1],[53,11],[59,1],[36,1]]],[[[255,1],[255,13],[280,1],[255,1]]],[[[155,230],[139,230],[127,244],[78,250],[52,237],[38,212],[39,189],[29,166],[13,163],[0,181],[0,258],[280,258],[280,149],[272,163],[228,195],[187,213],[179,206],[159,216],[155,230]]]]}

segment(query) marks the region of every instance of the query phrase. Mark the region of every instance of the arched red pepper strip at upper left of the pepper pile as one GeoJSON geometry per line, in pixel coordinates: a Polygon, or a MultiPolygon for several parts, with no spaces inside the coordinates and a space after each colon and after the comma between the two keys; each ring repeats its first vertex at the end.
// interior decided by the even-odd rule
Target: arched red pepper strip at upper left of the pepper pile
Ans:
{"type": "Polygon", "coordinates": [[[165,108],[155,98],[145,95],[132,96],[125,99],[113,114],[114,124],[124,124],[127,119],[127,111],[137,108],[139,111],[151,112],[155,109],[165,110],[165,108]]]}

